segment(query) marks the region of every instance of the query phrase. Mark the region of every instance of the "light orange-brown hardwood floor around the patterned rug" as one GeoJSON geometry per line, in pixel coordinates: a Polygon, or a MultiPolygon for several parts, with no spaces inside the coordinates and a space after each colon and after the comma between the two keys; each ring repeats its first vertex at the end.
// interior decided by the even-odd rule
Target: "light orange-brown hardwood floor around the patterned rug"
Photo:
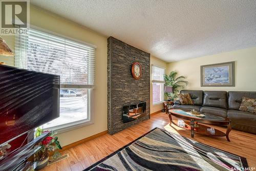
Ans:
{"type": "MultiPolygon", "coordinates": [[[[173,117],[173,119],[175,120],[177,118],[173,117]]],[[[70,157],[68,159],[52,164],[42,170],[83,170],[155,127],[190,138],[189,131],[173,125],[171,127],[169,125],[168,115],[165,113],[158,113],[151,116],[151,119],[129,127],[113,136],[106,134],[70,148],[63,152],[69,153],[70,157]]],[[[221,131],[226,130],[225,127],[213,127],[216,127],[221,131]]],[[[229,134],[229,138],[231,142],[228,142],[226,137],[207,137],[195,134],[194,139],[207,145],[223,149],[224,151],[243,156],[247,158],[249,167],[256,167],[256,135],[232,130],[229,134]]]]}

